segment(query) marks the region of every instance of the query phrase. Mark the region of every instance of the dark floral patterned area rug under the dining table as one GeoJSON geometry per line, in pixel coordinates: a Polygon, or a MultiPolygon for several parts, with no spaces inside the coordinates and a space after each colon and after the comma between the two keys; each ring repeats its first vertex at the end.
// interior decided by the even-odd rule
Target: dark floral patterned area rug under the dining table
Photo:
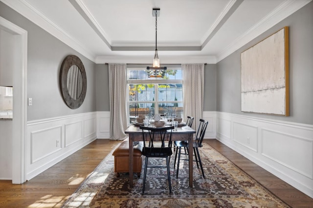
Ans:
{"type": "MultiPolygon", "coordinates": [[[[143,170],[139,178],[134,174],[134,188],[130,189],[128,174],[115,176],[111,152],[63,208],[289,208],[208,144],[199,150],[205,178],[194,162],[193,188],[189,188],[188,161],[181,160],[176,178],[173,155],[171,194],[166,168],[148,168],[144,194],[143,170]]],[[[161,159],[149,158],[148,162],[165,165],[161,159]]]]}

